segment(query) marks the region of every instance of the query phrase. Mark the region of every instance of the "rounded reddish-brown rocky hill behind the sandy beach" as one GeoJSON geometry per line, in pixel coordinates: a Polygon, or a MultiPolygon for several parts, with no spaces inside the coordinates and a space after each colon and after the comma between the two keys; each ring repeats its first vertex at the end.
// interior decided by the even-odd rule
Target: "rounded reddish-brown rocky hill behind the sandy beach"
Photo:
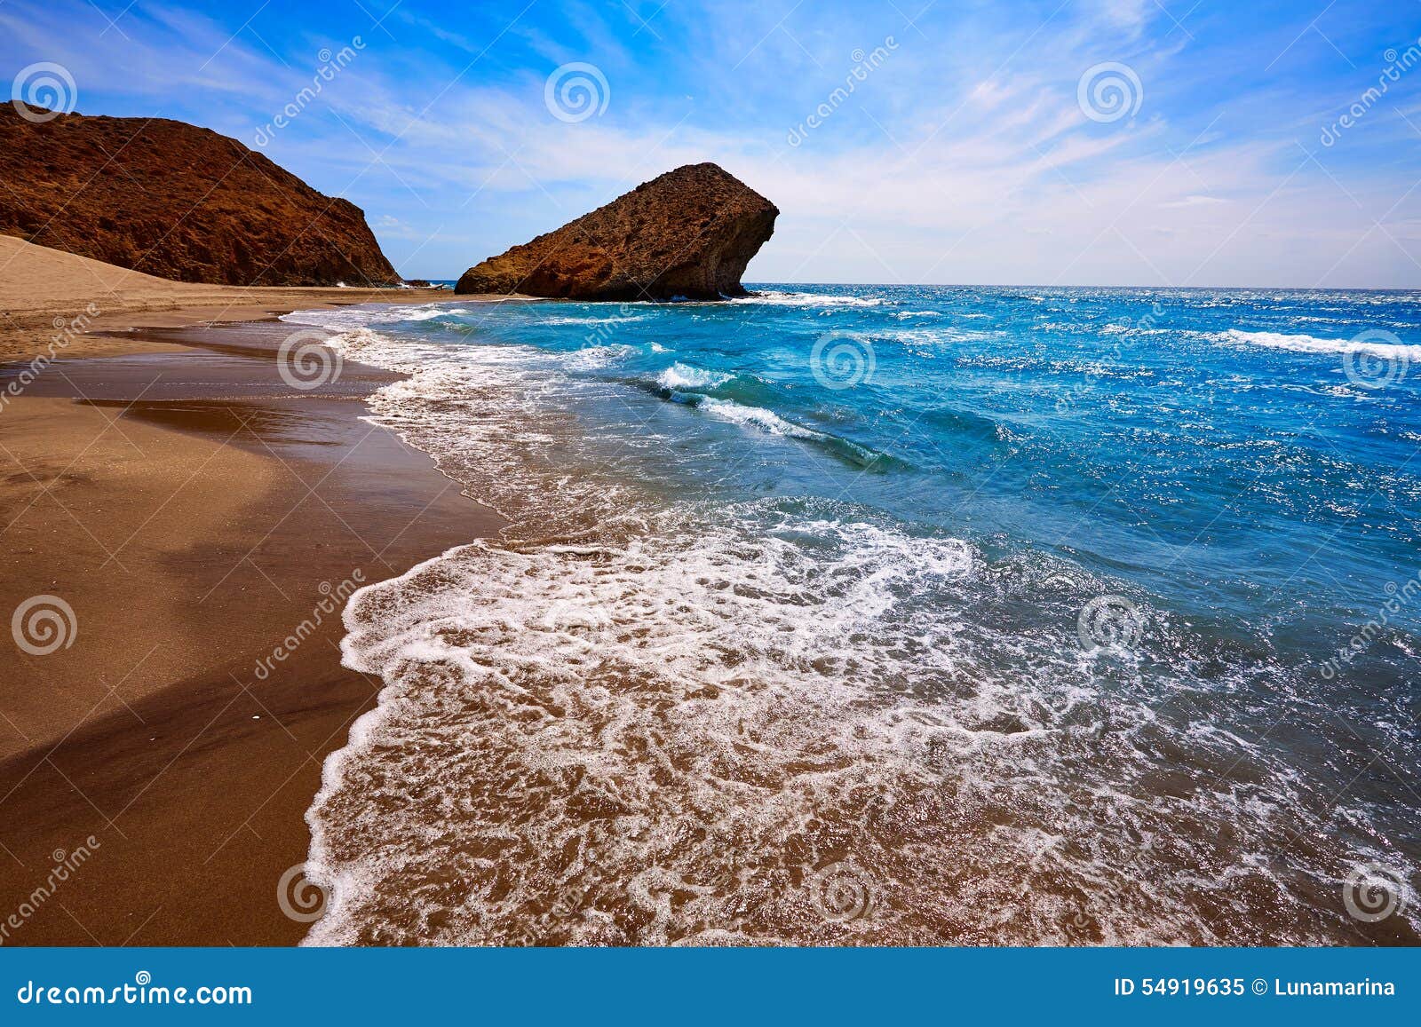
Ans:
{"type": "Polygon", "coordinates": [[[398,284],[354,203],[236,139],[159,118],[0,104],[0,233],[179,281],[398,284]]]}

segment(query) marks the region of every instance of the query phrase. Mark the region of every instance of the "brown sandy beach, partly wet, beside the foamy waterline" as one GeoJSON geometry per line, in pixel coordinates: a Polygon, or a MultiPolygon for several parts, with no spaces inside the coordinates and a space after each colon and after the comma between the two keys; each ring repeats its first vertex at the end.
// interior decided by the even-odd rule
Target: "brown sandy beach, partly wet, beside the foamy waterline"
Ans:
{"type": "MultiPolygon", "coordinates": [[[[0,239],[0,266],[14,241],[0,239]]],[[[48,324],[37,263],[80,260],[51,253],[0,271],[0,305],[31,318],[11,338],[26,359],[48,324]]],[[[111,322],[237,313],[179,307],[188,290],[227,290],[95,267],[115,284],[111,322]]],[[[61,286],[48,286],[50,317],[70,310],[61,286]]],[[[314,305],[311,293],[360,298],[230,291],[260,311],[314,305]]],[[[288,331],[81,337],[0,409],[0,619],[47,594],[75,624],[48,655],[0,635],[4,945],[298,940],[306,923],[277,885],[306,858],[321,760],[378,682],[340,666],[334,614],[284,662],[273,649],[357,570],[378,581],[499,527],[428,457],[360,420],[384,372],[347,364],[315,392],[286,386],[273,352],[288,331]],[[68,359],[115,351],[131,355],[68,359]],[[81,847],[87,862],[55,882],[55,859],[81,847]]]]}

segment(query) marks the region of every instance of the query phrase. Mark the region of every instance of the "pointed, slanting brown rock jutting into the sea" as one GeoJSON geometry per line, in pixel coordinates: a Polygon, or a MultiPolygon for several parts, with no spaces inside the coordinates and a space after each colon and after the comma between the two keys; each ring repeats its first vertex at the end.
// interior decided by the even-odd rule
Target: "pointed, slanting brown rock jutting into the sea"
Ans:
{"type": "Polygon", "coordinates": [[[779,213],[716,165],[686,165],[470,267],[455,291],[574,300],[745,295],[740,276],[779,213]]]}

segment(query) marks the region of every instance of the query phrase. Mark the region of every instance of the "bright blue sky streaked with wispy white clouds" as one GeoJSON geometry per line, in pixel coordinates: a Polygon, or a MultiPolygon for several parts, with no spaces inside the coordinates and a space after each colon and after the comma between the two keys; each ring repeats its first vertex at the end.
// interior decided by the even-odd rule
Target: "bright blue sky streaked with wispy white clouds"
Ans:
{"type": "Polygon", "coordinates": [[[443,278],[715,161],[782,210],[750,280],[1418,288],[1418,0],[0,0],[0,74],[261,138],[443,278]]]}

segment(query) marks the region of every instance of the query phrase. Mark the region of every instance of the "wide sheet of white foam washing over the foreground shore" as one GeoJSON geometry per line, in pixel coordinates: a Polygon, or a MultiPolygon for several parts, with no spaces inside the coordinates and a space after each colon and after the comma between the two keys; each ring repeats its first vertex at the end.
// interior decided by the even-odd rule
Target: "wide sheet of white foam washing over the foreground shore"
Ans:
{"type": "Polygon", "coordinates": [[[993,628],[972,547],[820,507],[476,543],[362,589],[345,662],[388,688],[308,813],[334,898],[307,942],[1219,943],[1296,905],[1228,879],[1304,815],[1286,773],[1236,801],[1177,763],[1161,803],[1158,680],[993,628]],[[826,874],[861,916],[826,918],[826,874]]]}

